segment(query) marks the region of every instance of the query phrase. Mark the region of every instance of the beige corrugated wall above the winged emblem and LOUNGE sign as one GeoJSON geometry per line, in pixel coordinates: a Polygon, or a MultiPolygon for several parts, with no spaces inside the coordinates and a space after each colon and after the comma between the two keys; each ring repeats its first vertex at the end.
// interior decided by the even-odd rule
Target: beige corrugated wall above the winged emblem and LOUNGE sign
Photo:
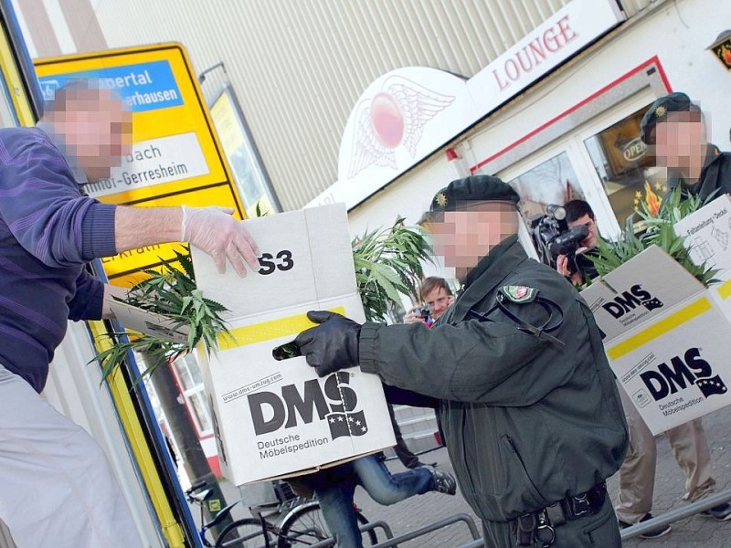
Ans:
{"type": "MultiPolygon", "coordinates": [[[[95,9],[110,47],[176,40],[197,72],[223,61],[281,204],[293,209],[336,180],[345,122],[373,80],[408,66],[470,78],[567,3],[119,0],[95,9]]],[[[223,77],[207,77],[208,99],[223,77]]]]}

